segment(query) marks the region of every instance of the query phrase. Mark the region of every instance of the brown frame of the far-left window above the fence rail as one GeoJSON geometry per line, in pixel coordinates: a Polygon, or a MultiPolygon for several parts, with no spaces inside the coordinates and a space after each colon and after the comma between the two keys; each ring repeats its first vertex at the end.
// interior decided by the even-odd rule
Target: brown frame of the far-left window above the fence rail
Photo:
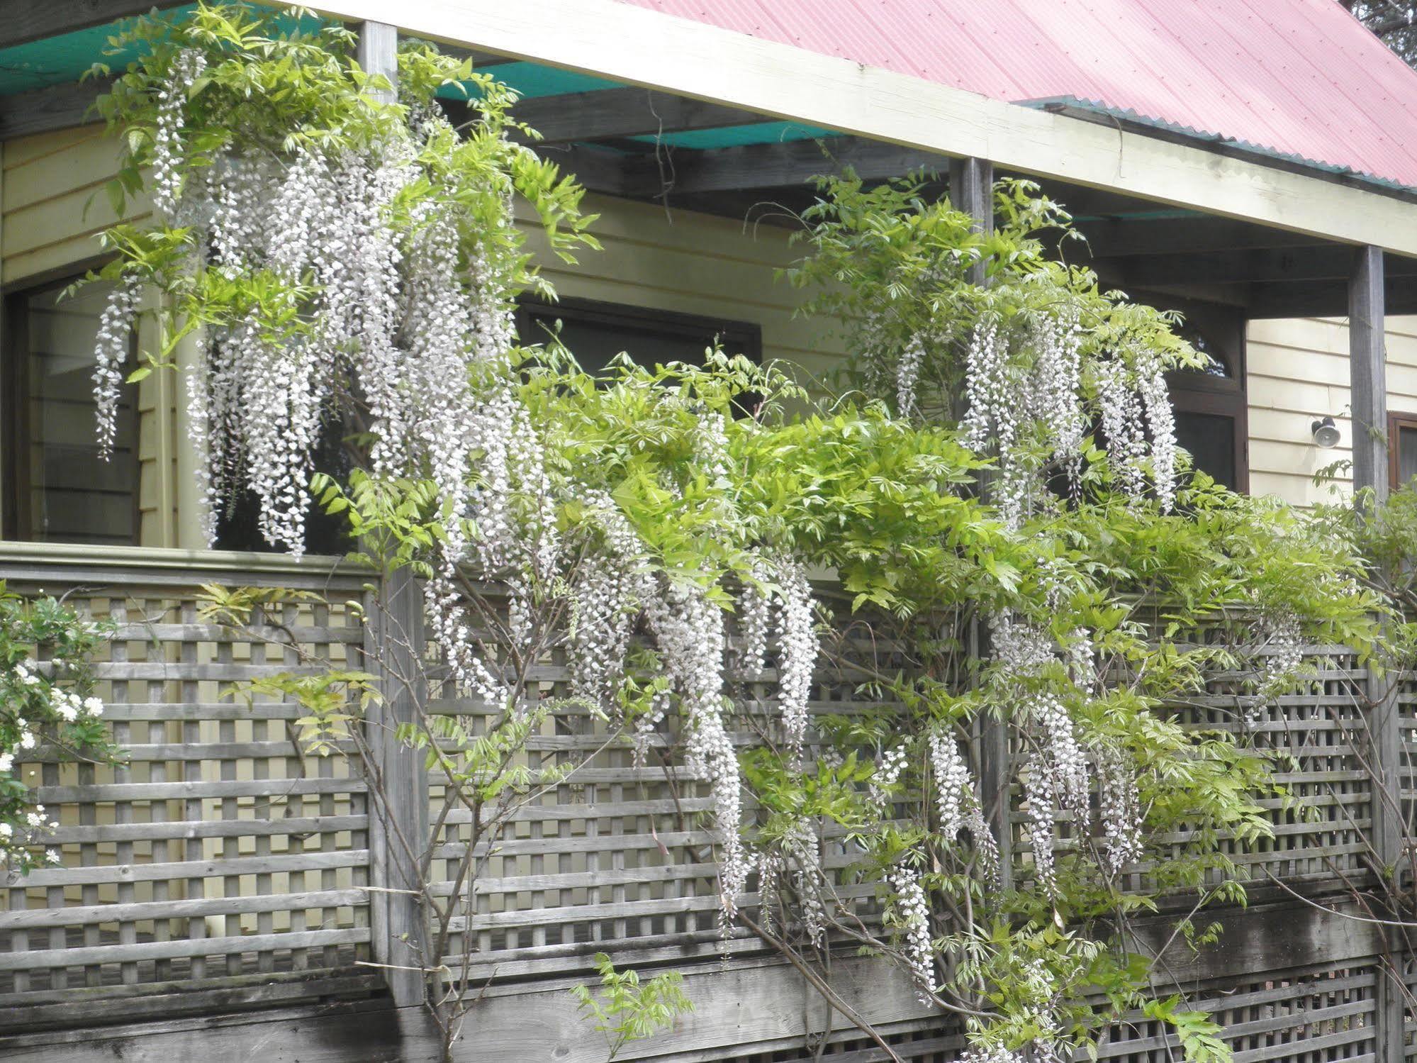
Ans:
{"type": "MultiPolygon", "coordinates": [[[[30,387],[27,359],[30,330],[27,300],[84,279],[109,259],[85,259],[0,286],[0,540],[11,543],[43,543],[33,534],[34,479],[28,462],[23,461],[31,445],[30,387]]],[[[139,353],[137,326],[129,336],[129,360],[136,364],[139,353]]],[[[140,418],[137,394],[133,394],[133,417],[140,418]]],[[[143,533],[142,512],[142,427],[135,422],[133,435],[133,536],[126,546],[139,546],[143,533]]],[[[95,544],[96,546],[96,544],[95,544]]]]}

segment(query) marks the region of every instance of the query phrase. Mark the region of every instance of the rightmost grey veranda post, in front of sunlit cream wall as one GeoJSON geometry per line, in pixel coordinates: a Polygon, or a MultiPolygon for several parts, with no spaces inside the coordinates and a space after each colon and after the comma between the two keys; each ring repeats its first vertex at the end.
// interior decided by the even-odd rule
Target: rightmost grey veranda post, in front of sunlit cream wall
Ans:
{"type": "MultiPolygon", "coordinates": [[[[1387,366],[1383,305],[1383,251],[1362,247],[1353,255],[1348,282],[1348,343],[1352,374],[1353,490],[1372,492],[1376,512],[1387,500],[1387,366]]],[[[1360,514],[1360,519],[1366,514],[1360,514]]],[[[1401,755],[1397,685],[1387,676],[1366,682],[1367,727],[1373,758],[1373,849],[1384,867],[1401,862],[1401,755]]],[[[1386,935],[1391,971],[1377,979],[1376,1026],[1379,1063],[1406,1059],[1404,994],[1394,978],[1403,977],[1406,955],[1401,935],[1386,935]]]]}

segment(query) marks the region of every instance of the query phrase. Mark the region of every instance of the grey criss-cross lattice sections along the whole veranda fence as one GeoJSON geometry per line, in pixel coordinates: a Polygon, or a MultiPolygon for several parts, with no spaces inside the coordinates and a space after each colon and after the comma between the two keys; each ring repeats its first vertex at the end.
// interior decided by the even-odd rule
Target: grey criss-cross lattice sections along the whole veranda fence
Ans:
{"type": "MultiPolygon", "coordinates": [[[[244,680],[298,672],[298,655],[281,645],[288,639],[336,663],[370,666],[370,636],[341,604],[373,608],[361,577],[279,563],[230,573],[11,567],[10,575],[16,590],[68,591],[81,612],[119,624],[98,669],[98,693],[116,741],[130,754],[122,767],[103,768],[41,750],[23,765],[38,799],[57,812],[54,843],[64,863],[0,883],[7,901],[0,911],[0,1005],[18,1013],[81,994],[91,998],[95,989],[130,996],[282,978],[327,975],[333,982],[371,958],[376,920],[366,887],[381,883],[374,880],[374,823],[363,782],[341,757],[300,754],[295,706],[259,699],[248,706],[228,696],[244,680]],[[269,641],[241,636],[198,618],[198,585],[207,581],[306,588],[330,604],[281,607],[279,615],[258,618],[269,641]]],[[[812,712],[888,710],[863,693],[860,680],[870,675],[866,666],[894,673],[908,660],[870,638],[847,636],[836,649],[846,663],[820,679],[812,712]]],[[[1346,649],[1314,646],[1308,655],[1314,676],[1277,703],[1257,703],[1254,676],[1221,673],[1203,696],[1172,710],[1190,726],[1244,730],[1255,744],[1287,754],[1281,781],[1302,815],[1271,802],[1274,842],[1233,856],[1253,869],[1257,883],[1268,873],[1318,896],[1331,887],[1336,893],[1340,876],[1355,882],[1366,867],[1372,797],[1360,753],[1367,675],[1346,649]]],[[[533,693],[557,699],[567,682],[564,660],[553,656],[538,666],[533,693]]],[[[771,670],[735,679],[738,743],[777,716],[774,689],[771,670]]],[[[1413,743],[1417,680],[1403,677],[1400,690],[1403,734],[1413,743]]],[[[451,696],[435,699],[434,712],[463,716],[475,730],[489,719],[486,706],[451,696]]],[[[597,951],[611,952],[621,967],[717,964],[726,954],[754,961],[757,938],[735,930],[726,940],[720,930],[708,787],[686,767],[673,724],[655,733],[642,758],[606,737],[602,720],[563,704],[530,738],[530,770],[575,764],[577,771],[495,839],[473,887],[470,921],[455,924],[446,960],[461,962],[466,947],[479,977],[527,985],[581,978],[597,951]]],[[[436,808],[439,778],[431,774],[428,787],[436,808]]],[[[1404,787],[1410,808],[1411,772],[1404,787]]],[[[1015,794],[1013,840],[1024,869],[1026,814],[1015,794]]],[[[446,867],[469,829],[453,816],[432,839],[445,890],[446,867]]],[[[856,857],[842,839],[829,839],[826,866],[839,876],[842,896],[870,921],[877,914],[873,890],[853,886],[847,873],[856,857]]],[[[1134,873],[1141,879],[1146,869],[1134,873]]],[[[754,913],[755,904],[750,893],[747,910],[754,913]]],[[[1379,960],[1359,950],[1335,957],[1331,969],[1264,967],[1186,986],[1224,1023],[1237,1060],[1374,1057],[1379,960]]],[[[897,1023],[890,1040],[903,1059],[921,1063],[952,1060],[964,1045],[959,1030],[939,1019],[897,1023]]],[[[761,1063],[819,1056],[884,1059],[850,1029],[828,1037],[820,1053],[816,1045],[693,1053],[696,1060],[761,1063]]],[[[1408,1046],[1408,1056],[1417,1057],[1417,1046],[1408,1046]]],[[[1132,1016],[1110,1032],[1101,1057],[1169,1063],[1176,1049],[1158,1023],[1132,1016]]]]}

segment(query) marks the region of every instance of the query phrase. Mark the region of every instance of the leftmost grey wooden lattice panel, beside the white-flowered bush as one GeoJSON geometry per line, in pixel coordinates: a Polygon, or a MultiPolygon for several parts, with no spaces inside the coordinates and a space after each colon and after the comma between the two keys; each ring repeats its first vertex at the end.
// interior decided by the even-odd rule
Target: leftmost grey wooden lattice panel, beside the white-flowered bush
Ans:
{"type": "MultiPolygon", "coordinates": [[[[309,757],[293,704],[231,697],[232,685],[302,665],[266,638],[203,624],[204,581],[307,587],[330,601],[357,581],[288,574],[26,570],[11,588],[68,591],[118,624],[96,666],[118,767],[44,751],[20,765],[60,826],[62,865],[0,883],[0,994],[62,1001],[95,986],[133,992],[245,974],[349,968],[370,940],[368,815],[343,757],[309,757]]],[[[363,629],[343,605],[289,605],[265,632],[360,663],[363,629]],[[276,631],[276,626],[281,631],[276,631]]]]}

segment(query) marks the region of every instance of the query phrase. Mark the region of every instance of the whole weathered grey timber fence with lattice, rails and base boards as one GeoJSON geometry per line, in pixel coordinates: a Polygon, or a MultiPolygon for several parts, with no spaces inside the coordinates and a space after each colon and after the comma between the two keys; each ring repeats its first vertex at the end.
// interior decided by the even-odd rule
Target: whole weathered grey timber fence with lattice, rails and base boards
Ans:
{"type": "MultiPolygon", "coordinates": [[[[0,883],[7,900],[0,1059],[434,1059],[417,974],[360,965],[402,965],[408,935],[424,928],[417,907],[397,893],[407,883],[400,849],[357,771],[341,757],[299,753],[295,706],[224,696],[234,683],[300,663],[197,617],[204,583],[315,591],[329,605],[292,602],[265,622],[322,656],[366,668],[391,649],[410,652],[408,634],[419,626],[417,588],[385,587],[376,597],[360,574],[282,558],[150,551],[108,563],[92,550],[4,551],[0,578],[13,588],[68,592],[82,611],[120,622],[99,677],[115,737],[130,757],[105,770],[37,751],[24,765],[38,798],[58,811],[64,866],[0,883]],[[364,624],[346,602],[368,614],[364,624]]],[[[1196,726],[1251,727],[1257,741],[1288,753],[1285,782],[1297,799],[1268,802],[1271,843],[1236,852],[1253,870],[1251,907],[1214,913],[1226,926],[1220,945],[1178,957],[1168,974],[1216,1011],[1241,1063],[1393,1063],[1417,1049],[1410,996],[1401,986],[1384,989],[1384,965],[1410,985],[1410,958],[1384,955],[1391,943],[1343,897],[1367,880],[1374,855],[1380,797],[1363,757],[1386,741],[1406,761],[1417,683],[1408,676],[1390,683],[1397,712],[1369,714],[1369,675],[1352,652],[1315,646],[1309,655],[1318,670],[1305,689],[1248,721],[1237,721],[1236,710],[1253,703],[1238,675],[1214,676],[1206,697],[1176,707],[1196,726]],[[1391,734],[1369,740],[1369,727],[1391,734]]],[[[564,680],[558,660],[537,673],[548,693],[564,680]]],[[[431,693],[435,712],[485,719],[476,702],[431,693]]],[[[750,685],[737,693],[767,696],[750,685]]],[[[850,683],[823,679],[815,696],[819,713],[873,707],[850,683]]],[[[428,836],[436,780],[387,740],[385,724],[405,712],[398,697],[381,712],[370,743],[393,784],[390,815],[427,839],[436,870],[465,845],[469,823],[452,821],[428,836]]],[[[567,709],[531,737],[529,767],[584,758],[598,743],[591,724],[567,709]]],[[[472,962],[487,988],[458,1059],[604,1060],[604,1043],[567,994],[587,981],[597,951],[622,967],[682,971],[696,1003],[674,1032],[622,1057],[805,1060],[818,1045],[809,1037],[829,1028],[823,1056],[883,1059],[755,938],[720,940],[713,835],[701,815],[707,788],[666,753],[667,743],[656,744],[636,765],[629,748],[605,750],[521,811],[476,884],[470,920],[459,926],[473,938],[472,962]]],[[[1401,772],[1400,792],[1396,775],[1387,781],[1410,815],[1410,772],[1401,772]]],[[[1026,853],[1020,804],[1013,794],[1009,822],[1015,850],[1026,853]]],[[[852,859],[845,846],[829,846],[829,866],[845,869],[852,859]]],[[[869,893],[854,903],[870,918],[869,893]]],[[[461,945],[453,951],[461,955],[461,945]]],[[[894,971],[843,951],[832,979],[903,1059],[958,1054],[959,1030],[927,1013],[894,971]]],[[[1135,1016],[1111,1032],[1101,1054],[1162,1063],[1173,1053],[1156,1022],[1135,1016]]]]}

